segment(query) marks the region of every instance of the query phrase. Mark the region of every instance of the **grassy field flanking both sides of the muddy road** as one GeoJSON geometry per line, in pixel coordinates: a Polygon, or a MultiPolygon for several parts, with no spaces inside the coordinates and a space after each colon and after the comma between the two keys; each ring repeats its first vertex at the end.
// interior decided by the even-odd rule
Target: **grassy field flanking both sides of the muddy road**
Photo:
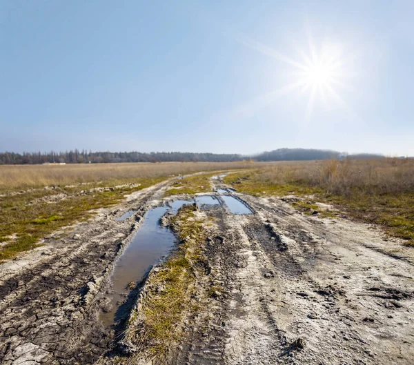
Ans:
{"type": "MultiPolygon", "coordinates": [[[[334,204],[413,244],[413,159],[0,166],[0,260],[34,248],[44,235],[128,193],[209,170],[240,170],[225,181],[242,193],[306,197],[293,205],[308,214],[317,210],[317,201],[334,204]]],[[[211,175],[176,181],[166,195],[206,193],[211,175]]]]}

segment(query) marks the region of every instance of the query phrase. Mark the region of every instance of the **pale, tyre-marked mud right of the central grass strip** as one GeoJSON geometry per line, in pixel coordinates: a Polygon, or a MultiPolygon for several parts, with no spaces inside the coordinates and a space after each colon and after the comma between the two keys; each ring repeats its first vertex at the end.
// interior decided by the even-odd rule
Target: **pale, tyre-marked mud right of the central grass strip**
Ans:
{"type": "Polygon", "coordinates": [[[172,364],[413,364],[413,252],[378,228],[239,195],[208,244],[226,293],[172,364]],[[177,360],[179,359],[179,361],[177,360]]]}

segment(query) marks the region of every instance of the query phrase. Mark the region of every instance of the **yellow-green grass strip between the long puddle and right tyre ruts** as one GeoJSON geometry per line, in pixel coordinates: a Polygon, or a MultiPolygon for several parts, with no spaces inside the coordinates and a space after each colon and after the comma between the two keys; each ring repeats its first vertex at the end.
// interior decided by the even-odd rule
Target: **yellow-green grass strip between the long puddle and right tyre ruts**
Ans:
{"type": "MultiPolygon", "coordinates": [[[[162,358],[168,348],[185,335],[181,328],[184,315],[195,306],[192,296],[197,264],[202,261],[201,246],[206,240],[197,208],[184,206],[172,217],[179,238],[177,250],[146,282],[146,295],[141,302],[139,326],[130,326],[127,338],[139,346],[139,356],[162,358]]],[[[134,322],[137,316],[132,315],[134,322]]],[[[130,359],[135,364],[136,358],[130,359]]]]}

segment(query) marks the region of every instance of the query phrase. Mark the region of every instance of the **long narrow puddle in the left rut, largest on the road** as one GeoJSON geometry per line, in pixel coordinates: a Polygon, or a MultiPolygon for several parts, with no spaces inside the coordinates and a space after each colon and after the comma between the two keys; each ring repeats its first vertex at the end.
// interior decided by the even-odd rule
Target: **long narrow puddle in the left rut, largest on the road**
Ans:
{"type": "Polygon", "coordinates": [[[170,206],[152,208],[146,214],[144,223],[117,261],[112,273],[110,309],[99,315],[105,326],[117,323],[128,313],[128,303],[122,304],[131,291],[128,284],[141,281],[150,267],[168,255],[174,246],[175,235],[168,228],[160,226],[159,219],[168,210],[177,213],[184,204],[190,204],[190,201],[174,201],[170,206]]]}

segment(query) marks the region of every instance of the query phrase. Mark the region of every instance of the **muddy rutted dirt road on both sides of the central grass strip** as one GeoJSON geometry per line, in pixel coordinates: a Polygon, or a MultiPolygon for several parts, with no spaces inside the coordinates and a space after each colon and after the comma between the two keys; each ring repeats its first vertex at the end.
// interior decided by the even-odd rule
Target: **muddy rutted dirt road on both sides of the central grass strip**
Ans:
{"type": "MultiPolygon", "coordinates": [[[[1,364],[128,363],[117,344],[127,325],[101,320],[114,310],[111,274],[148,210],[172,200],[162,199],[170,182],[0,266],[1,364]]],[[[186,336],[162,362],[414,363],[412,248],[374,226],[303,215],[288,199],[241,195],[219,178],[211,184],[213,193],[197,197],[197,214],[214,222],[197,290],[219,290],[202,315],[184,319],[186,336]]],[[[132,292],[115,304],[125,317],[132,292]]]]}

